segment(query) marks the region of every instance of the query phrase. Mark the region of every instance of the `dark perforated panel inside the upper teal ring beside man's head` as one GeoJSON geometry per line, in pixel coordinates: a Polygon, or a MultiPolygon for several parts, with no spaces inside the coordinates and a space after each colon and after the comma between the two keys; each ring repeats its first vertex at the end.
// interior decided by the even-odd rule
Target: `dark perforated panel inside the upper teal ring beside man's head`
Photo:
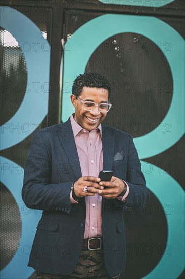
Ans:
{"type": "Polygon", "coordinates": [[[161,50],[148,38],[121,33],[107,39],[91,55],[86,71],[97,71],[111,82],[113,106],[106,124],[138,137],[165,117],[172,76],[161,50]]]}

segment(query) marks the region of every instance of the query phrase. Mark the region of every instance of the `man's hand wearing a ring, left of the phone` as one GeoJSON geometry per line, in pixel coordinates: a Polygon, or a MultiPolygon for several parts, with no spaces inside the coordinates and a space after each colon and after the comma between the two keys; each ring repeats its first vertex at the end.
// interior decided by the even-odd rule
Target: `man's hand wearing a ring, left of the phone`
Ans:
{"type": "Polygon", "coordinates": [[[99,185],[99,182],[99,177],[80,177],[73,185],[75,196],[77,196],[78,198],[82,198],[87,196],[94,196],[95,194],[101,194],[104,187],[99,185]],[[83,191],[85,186],[87,186],[87,192],[83,191]]]}

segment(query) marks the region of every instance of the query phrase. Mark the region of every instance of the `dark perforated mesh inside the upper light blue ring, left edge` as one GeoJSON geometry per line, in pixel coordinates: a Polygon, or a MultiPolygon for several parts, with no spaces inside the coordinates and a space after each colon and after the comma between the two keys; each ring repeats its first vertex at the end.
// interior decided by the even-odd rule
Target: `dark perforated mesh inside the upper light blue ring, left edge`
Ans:
{"type": "Polygon", "coordinates": [[[1,63],[1,125],[18,110],[26,89],[27,70],[24,55],[18,42],[0,28],[1,63]]]}

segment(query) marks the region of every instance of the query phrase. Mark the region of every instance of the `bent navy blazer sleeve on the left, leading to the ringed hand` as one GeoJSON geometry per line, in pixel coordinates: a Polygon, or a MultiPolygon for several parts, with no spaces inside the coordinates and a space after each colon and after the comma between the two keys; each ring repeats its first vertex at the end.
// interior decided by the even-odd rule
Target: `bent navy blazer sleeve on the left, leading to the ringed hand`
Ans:
{"type": "Polygon", "coordinates": [[[51,158],[39,131],[33,134],[24,169],[22,198],[26,206],[70,213],[71,182],[51,184],[51,158]]]}

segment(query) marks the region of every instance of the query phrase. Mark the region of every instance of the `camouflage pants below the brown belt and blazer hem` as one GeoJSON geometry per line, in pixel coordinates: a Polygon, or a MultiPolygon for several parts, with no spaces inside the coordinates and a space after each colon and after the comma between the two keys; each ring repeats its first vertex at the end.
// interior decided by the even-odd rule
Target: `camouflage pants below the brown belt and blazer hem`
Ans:
{"type": "Polygon", "coordinates": [[[104,265],[103,249],[88,250],[87,248],[82,248],[77,265],[70,275],[55,275],[39,271],[37,272],[38,275],[36,279],[119,279],[120,275],[118,274],[111,277],[107,274],[104,265]]]}

